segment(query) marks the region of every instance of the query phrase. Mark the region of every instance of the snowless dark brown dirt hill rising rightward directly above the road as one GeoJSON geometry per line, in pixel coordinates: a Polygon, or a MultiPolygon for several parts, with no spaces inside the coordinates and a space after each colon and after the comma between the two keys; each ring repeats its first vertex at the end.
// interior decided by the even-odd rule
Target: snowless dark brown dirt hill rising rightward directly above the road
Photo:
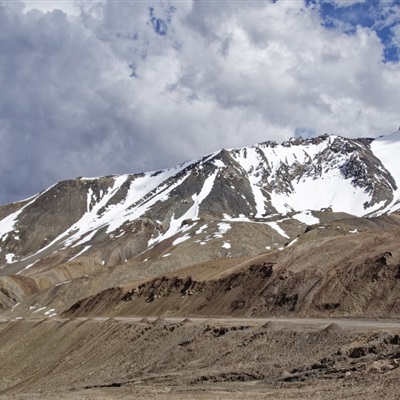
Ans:
{"type": "Polygon", "coordinates": [[[212,280],[161,276],[100,292],[65,315],[399,317],[399,237],[396,230],[310,241],[214,268],[212,280]]]}

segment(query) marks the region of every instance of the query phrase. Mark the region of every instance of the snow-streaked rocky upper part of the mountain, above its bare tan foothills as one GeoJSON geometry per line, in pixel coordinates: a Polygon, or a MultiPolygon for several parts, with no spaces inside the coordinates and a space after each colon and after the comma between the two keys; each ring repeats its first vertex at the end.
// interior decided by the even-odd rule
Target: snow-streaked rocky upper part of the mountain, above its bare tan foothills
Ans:
{"type": "MultiPolygon", "coordinates": [[[[215,235],[235,222],[264,224],[287,241],[293,237],[280,222],[289,215],[313,224],[321,210],[391,213],[400,209],[397,154],[400,132],[375,140],[324,135],[223,149],[162,171],[60,182],[0,207],[0,274],[45,258],[71,262],[122,237],[124,262],[167,240],[199,235],[201,243],[208,223],[219,224],[215,235]]],[[[110,264],[104,254],[94,259],[110,264]]]]}

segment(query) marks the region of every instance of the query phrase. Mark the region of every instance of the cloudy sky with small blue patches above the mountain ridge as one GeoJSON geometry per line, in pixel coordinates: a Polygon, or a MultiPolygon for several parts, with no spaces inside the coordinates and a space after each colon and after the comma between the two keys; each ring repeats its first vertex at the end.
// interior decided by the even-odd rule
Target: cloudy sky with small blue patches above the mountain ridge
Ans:
{"type": "Polygon", "coordinates": [[[0,0],[0,27],[0,204],[400,125],[400,0],[0,0]]]}

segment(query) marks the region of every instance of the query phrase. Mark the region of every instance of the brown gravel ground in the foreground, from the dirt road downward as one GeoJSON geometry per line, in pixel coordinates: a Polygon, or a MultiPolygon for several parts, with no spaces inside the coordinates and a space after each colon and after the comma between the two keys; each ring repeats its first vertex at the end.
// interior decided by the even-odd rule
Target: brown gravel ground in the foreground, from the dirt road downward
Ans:
{"type": "Polygon", "coordinates": [[[400,321],[0,321],[1,399],[397,399],[400,321]]]}

